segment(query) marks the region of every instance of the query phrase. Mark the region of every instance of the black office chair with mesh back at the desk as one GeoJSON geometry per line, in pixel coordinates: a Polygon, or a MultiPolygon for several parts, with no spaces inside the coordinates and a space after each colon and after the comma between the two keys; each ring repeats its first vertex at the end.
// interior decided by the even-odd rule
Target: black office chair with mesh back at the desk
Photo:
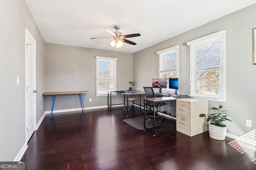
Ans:
{"type": "MultiPolygon", "coordinates": [[[[144,88],[144,91],[145,91],[145,94],[146,94],[146,98],[155,98],[156,97],[155,92],[154,92],[152,87],[143,87],[143,88],[144,88]]],[[[156,102],[155,103],[156,113],[157,113],[158,107],[162,106],[162,105],[164,105],[163,102],[156,102]]],[[[146,117],[145,117],[145,119],[147,119],[147,117],[153,117],[153,115],[148,115],[148,106],[150,107],[149,109],[151,110],[151,107],[154,106],[153,102],[146,101],[146,106],[144,106],[144,107],[146,107],[146,117]]],[[[158,123],[161,123],[162,120],[164,119],[164,117],[159,116],[157,114],[155,115],[155,118],[158,119],[158,123]]],[[[148,123],[150,123],[150,118],[148,118],[148,123]]]]}

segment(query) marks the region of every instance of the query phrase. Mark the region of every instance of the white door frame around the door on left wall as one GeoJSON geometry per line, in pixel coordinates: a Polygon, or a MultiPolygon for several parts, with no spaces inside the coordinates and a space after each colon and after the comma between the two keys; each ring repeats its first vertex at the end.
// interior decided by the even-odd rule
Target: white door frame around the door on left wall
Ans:
{"type": "MultiPolygon", "coordinates": [[[[34,49],[34,62],[33,62],[33,86],[34,86],[34,90],[36,90],[36,40],[34,39],[34,37],[31,35],[31,33],[28,31],[28,29],[26,28],[26,34],[25,34],[25,139],[26,139],[26,143],[28,143],[28,133],[27,133],[27,128],[28,128],[28,108],[27,108],[27,80],[28,80],[28,50],[27,50],[27,45],[28,45],[28,40],[27,40],[27,36],[29,36],[32,41],[33,41],[33,49],[34,49]]],[[[36,130],[36,93],[33,94],[33,131],[36,130]]]]}

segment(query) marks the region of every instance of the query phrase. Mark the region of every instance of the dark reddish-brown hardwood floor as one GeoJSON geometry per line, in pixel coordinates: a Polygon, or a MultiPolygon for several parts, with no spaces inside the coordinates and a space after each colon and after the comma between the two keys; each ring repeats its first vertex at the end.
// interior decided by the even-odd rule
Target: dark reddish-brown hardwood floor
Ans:
{"type": "MultiPolygon", "coordinates": [[[[132,109],[131,109],[132,110],[132,109]]],[[[122,107],[46,115],[21,161],[26,170],[255,170],[256,152],[208,132],[189,137],[171,128],[137,130],[122,107]]],[[[143,115],[142,115],[143,116],[143,115]]]]}

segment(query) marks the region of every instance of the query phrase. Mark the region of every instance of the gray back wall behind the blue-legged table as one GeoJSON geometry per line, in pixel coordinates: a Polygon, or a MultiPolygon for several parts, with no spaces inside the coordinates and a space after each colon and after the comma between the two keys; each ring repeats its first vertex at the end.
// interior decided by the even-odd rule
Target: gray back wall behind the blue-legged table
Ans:
{"type": "MultiPolygon", "coordinates": [[[[95,96],[95,56],[118,58],[117,88],[128,90],[133,74],[132,54],[46,43],[46,92],[88,90],[90,93],[84,98],[85,107],[107,106],[107,96],[95,96]],[[92,102],[89,102],[89,98],[92,102]]],[[[52,107],[52,100],[50,96],[44,96],[44,98],[46,111],[49,111],[52,107]]],[[[123,97],[119,94],[113,98],[123,97]]],[[[56,96],[54,110],[80,107],[79,95],[56,96]]]]}

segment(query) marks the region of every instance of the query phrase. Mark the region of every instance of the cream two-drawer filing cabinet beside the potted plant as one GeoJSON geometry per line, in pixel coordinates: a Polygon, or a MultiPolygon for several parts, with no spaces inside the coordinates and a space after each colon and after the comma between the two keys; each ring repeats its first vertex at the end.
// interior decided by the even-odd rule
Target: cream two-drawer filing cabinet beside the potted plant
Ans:
{"type": "Polygon", "coordinates": [[[206,117],[208,114],[208,100],[197,98],[183,98],[176,100],[176,130],[190,137],[208,131],[206,117]]]}

